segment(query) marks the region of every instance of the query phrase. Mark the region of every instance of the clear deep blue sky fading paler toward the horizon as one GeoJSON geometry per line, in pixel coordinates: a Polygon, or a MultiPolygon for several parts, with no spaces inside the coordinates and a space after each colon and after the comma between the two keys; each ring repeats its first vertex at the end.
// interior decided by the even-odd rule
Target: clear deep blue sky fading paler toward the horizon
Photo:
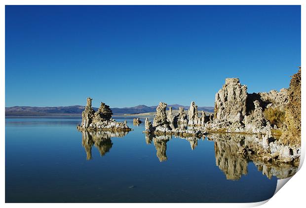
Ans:
{"type": "Polygon", "coordinates": [[[288,87],[301,6],[6,6],[5,106],[214,106],[288,87]]]}

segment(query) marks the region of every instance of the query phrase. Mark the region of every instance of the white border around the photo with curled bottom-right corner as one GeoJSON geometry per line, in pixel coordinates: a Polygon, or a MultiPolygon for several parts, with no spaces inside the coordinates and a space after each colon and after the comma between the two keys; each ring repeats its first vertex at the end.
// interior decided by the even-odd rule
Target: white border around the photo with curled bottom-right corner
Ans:
{"type": "MultiPolygon", "coordinates": [[[[302,0],[1,0],[0,1],[0,41],[1,41],[1,47],[0,47],[0,96],[1,96],[1,111],[0,111],[0,123],[1,123],[1,154],[0,154],[0,161],[1,161],[1,201],[4,204],[5,198],[5,177],[4,177],[4,151],[5,151],[5,133],[4,133],[4,125],[5,125],[5,116],[4,116],[4,106],[5,106],[5,63],[4,63],[4,54],[5,54],[5,5],[302,5],[301,6],[301,13],[302,13],[302,57],[305,58],[305,20],[306,20],[306,9],[305,9],[305,1],[302,0]]],[[[302,59],[302,63],[304,63],[305,59],[302,59]]],[[[304,74],[304,72],[303,72],[304,74]]],[[[304,77],[304,75],[303,75],[304,77]]],[[[305,85],[302,81],[302,112],[304,112],[304,104],[305,102],[305,85]]],[[[305,119],[304,113],[302,113],[302,121],[305,119]]],[[[305,122],[302,122],[302,135],[304,133],[305,129],[305,122]]],[[[259,202],[259,203],[248,203],[248,204],[158,204],[158,206],[161,207],[169,207],[169,206],[175,206],[175,207],[185,207],[186,205],[191,205],[192,207],[202,207],[202,206],[209,206],[209,207],[254,207],[264,204],[264,207],[287,207],[292,206],[296,207],[299,205],[304,205],[305,203],[305,175],[306,171],[305,168],[301,168],[304,159],[305,159],[305,137],[302,136],[302,156],[301,156],[301,164],[300,164],[300,171],[296,173],[291,179],[288,184],[286,184],[283,188],[281,188],[275,196],[273,196],[270,200],[267,200],[265,202],[259,202]],[[269,202],[268,202],[269,201],[269,202]],[[266,203],[268,202],[268,203],[266,203]],[[265,204],[266,203],[266,204],[265,204]]],[[[283,183],[283,181],[280,181],[283,183]]],[[[277,186],[280,186],[278,183],[277,186]]],[[[250,187],[252,188],[252,187],[250,187]]],[[[19,207],[20,204],[5,204],[6,207],[19,207]]],[[[22,204],[22,206],[25,207],[40,207],[41,204],[22,204]]],[[[81,207],[82,204],[43,204],[44,207],[67,207],[67,206],[75,206],[75,207],[81,207]]],[[[124,207],[133,207],[133,208],[141,208],[143,206],[146,207],[155,207],[156,204],[90,204],[85,206],[91,206],[91,207],[100,207],[100,206],[107,206],[107,207],[115,207],[115,206],[124,206],[124,207]]]]}

